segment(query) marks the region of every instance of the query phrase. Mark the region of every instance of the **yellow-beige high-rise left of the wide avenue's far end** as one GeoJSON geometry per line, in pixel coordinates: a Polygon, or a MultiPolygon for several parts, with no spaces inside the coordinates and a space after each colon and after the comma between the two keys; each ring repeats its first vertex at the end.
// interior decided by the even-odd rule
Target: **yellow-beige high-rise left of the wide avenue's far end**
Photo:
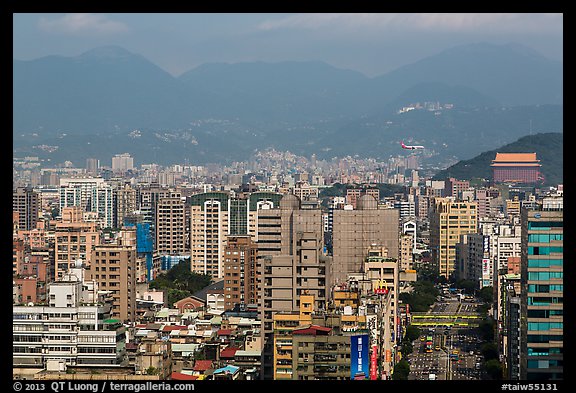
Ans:
{"type": "Polygon", "coordinates": [[[460,242],[460,235],[478,231],[477,204],[434,198],[428,216],[432,261],[439,275],[448,278],[456,268],[456,244],[460,242]]]}

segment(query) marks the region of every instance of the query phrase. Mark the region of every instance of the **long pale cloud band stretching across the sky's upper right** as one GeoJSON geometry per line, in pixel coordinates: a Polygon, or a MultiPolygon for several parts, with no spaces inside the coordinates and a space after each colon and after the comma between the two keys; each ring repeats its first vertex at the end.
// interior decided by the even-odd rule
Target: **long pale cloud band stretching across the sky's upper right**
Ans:
{"type": "Polygon", "coordinates": [[[356,13],[297,14],[269,19],[259,24],[261,30],[322,29],[422,31],[422,32],[509,32],[559,33],[562,14],[544,13],[356,13]]]}

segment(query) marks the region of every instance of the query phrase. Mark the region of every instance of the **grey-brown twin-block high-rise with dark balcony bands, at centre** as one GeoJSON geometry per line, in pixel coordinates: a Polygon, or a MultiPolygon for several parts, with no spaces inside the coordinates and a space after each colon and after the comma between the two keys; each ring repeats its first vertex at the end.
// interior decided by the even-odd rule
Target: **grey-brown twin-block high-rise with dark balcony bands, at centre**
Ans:
{"type": "Polygon", "coordinates": [[[314,296],[316,309],[326,306],[329,259],[322,254],[320,209],[302,209],[300,199],[285,194],[279,206],[258,210],[257,242],[263,323],[262,375],[273,376],[273,316],[298,311],[301,295],[314,296]]]}

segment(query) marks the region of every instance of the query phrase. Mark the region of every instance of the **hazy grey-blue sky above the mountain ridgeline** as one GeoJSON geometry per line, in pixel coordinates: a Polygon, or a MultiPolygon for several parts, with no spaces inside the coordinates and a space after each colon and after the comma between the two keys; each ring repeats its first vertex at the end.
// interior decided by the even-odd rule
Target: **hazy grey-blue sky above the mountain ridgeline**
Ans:
{"type": "Polygon", "coordinates": [[[175,76],[203,63],[257,60],[321,60],[374,76],[476,42],[520,43],[562,60],[563,15],[13,14],[14,59],[76,56],[119,45],[175,76]]]}

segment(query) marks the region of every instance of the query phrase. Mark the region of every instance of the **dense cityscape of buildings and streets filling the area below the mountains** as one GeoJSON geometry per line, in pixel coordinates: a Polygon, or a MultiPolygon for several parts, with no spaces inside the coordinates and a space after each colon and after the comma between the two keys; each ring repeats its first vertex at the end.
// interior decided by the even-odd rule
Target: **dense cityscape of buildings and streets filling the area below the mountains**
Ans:
{"type": "Polygon", "coordinates": [[[15,157],[14,378],[562,379],[562,184],[420,160],[15,157]]]}

